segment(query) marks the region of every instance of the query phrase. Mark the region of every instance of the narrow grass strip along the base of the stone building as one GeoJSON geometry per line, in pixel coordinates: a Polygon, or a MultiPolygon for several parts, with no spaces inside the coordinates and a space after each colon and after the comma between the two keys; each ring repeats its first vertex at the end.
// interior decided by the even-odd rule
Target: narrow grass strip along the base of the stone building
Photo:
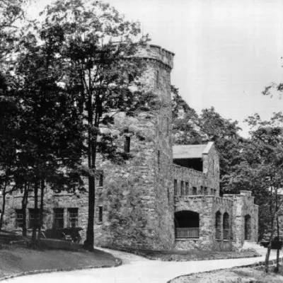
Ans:
{"type": "Polygon", "coordinates": [[[226,258],[255,258],[260,256],[255,250],[251,249],[236,252],[207,250],[136,250],[131,248],[124,248],[122,250],[144,256],[151,260],[163,261],[220,260],[226,258]]]}

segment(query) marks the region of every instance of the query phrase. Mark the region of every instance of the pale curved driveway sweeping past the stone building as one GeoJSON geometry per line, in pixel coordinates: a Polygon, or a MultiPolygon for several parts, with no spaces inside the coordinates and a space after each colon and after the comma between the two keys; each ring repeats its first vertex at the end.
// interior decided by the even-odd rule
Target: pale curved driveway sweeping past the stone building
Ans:
{"type": "MultiPolygon", "coordinates": [[[[254,248],[254,247],[253,247],[254,248]]],[[[169,279],[194,272],[204,272],[221,268],[249,265],[264,260],[266,249],[257,246],[262,254],[260,258],[241,258],[229,260],[202,260],[190,262],[162,262],[147,260],[138,255],[103,249],[123,260],[120,267],[98,268],[92,270],[75,270],[54,272],[42,275],[30,275],[9,279],[11,283],[166,283],[169,279]]],[[[272,251],[271,259],[275,258],[272,251]]]]}

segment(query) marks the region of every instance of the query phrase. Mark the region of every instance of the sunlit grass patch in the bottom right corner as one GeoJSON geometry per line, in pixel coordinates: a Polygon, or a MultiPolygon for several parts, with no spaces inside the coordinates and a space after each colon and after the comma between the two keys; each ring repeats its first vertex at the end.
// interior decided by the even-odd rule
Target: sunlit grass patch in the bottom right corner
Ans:
{"type": "Polygon", "coordinates": [[[171,280],[171,283],[224,283],[224,282],[261,282],[279,283],[283,282],[283,267],[279,273],[274,273],[274,267],[270,266],[270,273],[265,274],[263,268],[231,268],[229,270],[219,270],[212,272],[197,273],[195,275],[185,275],[171,280]]]}

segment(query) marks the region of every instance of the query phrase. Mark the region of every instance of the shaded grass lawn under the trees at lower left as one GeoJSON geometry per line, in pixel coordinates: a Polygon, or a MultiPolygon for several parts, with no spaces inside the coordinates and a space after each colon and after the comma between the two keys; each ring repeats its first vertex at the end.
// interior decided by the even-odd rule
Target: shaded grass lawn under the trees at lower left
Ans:
{"type": "MultiPolygon", "coordinates": [[[[0,235],[0,278],[34,270],[102,267],[117,264],[116,258],[101,250],[34,250],[23,244],[11,244],[23,237],[13,233],[0,235]]],[[[20,242],[21,243],[21,242],[20,242]]]]}

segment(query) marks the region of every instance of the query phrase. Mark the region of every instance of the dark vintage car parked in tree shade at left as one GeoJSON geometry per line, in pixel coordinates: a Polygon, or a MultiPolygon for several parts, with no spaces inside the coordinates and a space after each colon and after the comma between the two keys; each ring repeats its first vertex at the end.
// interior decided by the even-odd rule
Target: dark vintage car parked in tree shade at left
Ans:
{"type": "Polygon", "coordinates": [[[72,241],[79,243],[81,235],[79,231],[83,230],[81,227],[69,227],[62,229],[47,229],[42,231],[42,238],[54,238],[57,240],[72,241]]]}

